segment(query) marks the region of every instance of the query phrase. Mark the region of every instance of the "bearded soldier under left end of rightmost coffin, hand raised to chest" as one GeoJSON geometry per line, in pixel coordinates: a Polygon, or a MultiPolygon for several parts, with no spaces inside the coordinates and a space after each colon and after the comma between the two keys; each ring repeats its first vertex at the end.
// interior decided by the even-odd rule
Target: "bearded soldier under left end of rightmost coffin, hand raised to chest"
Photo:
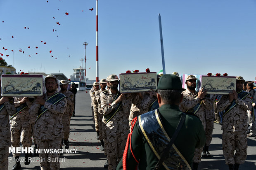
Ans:
{"type": "MultiPolygon", "coordinates": [[[[185,81],[187,89],[183,91],[183,100],[180,103],[180,108],[182,112],[188,114],[195,114],[199,117],[204,130],[206,129],[206,109],[211,109],[211,100],[205,98],[206,91],[203,91],[203,88],[197,93],[195,91],[197,78],[193,75],[189,75],[185,81]]],[[[193,158],[193,169],[198,169],[198,164],[201,162],[201,152],[203,148],[196,148],[193,158]]]]}

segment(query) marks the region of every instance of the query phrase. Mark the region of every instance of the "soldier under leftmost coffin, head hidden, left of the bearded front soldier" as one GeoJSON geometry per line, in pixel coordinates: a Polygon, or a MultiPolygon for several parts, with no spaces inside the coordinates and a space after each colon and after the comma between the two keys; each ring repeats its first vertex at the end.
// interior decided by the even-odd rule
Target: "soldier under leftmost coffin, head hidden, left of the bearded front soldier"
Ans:
{"type": "MultiPolygon", "coordinates": [[[[14,107],[16,108],[16,114],[11,117],[10,127],[11,127],[11,141],[12,147],[19,147],[19,142],[23,147],[31,147],[32,145],[32,132],[31,132],[31,123],[29,116],[29,108],[31,107],[31,102],[29,98],[14,98],[14,107]]],[[[21,164],[19,162],[18,153],[12,153],[15,158],[15,165],[13,166],[13,170],[18,170],[21,168],[21,164]]],[[[28,157],[32,157],[31,154],[25,154],[25,165],[30,164],[30,159],[28,157]]]]}

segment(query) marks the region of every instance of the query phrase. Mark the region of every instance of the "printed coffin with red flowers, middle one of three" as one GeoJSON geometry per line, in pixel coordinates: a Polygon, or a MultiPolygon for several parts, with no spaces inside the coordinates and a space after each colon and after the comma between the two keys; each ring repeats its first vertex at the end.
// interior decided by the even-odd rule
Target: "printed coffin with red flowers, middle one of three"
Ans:
{"type": "Polygon", "coordinates": [[[134,72],[119,74],[121,93],[150,91],[157,89],[156,72],[134,72]]]}

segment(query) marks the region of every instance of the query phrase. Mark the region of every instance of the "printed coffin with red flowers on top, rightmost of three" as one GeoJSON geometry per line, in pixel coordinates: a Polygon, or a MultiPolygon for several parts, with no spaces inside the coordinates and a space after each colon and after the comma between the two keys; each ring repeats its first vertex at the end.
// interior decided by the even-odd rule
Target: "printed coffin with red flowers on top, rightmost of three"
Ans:
{"type": "Polygon", "coordinates": [[[229,94],[236,89],[236,77],[232,76],[202,76],[201,88],[208,94],[229,94]]]}

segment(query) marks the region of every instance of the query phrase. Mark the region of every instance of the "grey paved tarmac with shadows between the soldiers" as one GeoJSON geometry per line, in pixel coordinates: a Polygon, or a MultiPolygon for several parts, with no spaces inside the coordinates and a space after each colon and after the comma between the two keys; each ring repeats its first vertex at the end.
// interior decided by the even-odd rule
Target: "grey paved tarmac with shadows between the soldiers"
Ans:
{"type": "MultiPolygon", "coordinates": [[[[92,121],[90,108],[89,91],[78,91],[76,95],[76,116],[71,117],[70,149],[78,149],[76,154],[61,155],[60,163],[62,170],[105,170],[103,167],[106,157],[100,150],[100,141],[96,139],[96,132],[92,121]]],[[[222,130],[220,125],[215,124],[213,140],[210,146],[210,153],[213,158],[202,159],[199,170],[228,170],[225,165],[222,144],[222,130]]],[[[247,161],[241,165],[239,170],[256,169],[256,139],[248,138],[247,161]]],[[[12,158],[12,154],[9,155],[12,158]]],[[[21,155],[24,158],[24,154],[21,155]]],[[[34,157],[38,158],[38,157],[34,157]]],[[[15,162],[10,161],[8,170],[11,170],[15,162]]],[[[22,170],[40,170],[39,162],[32,162],[30,165],[21,163],[22,170]]]]}

